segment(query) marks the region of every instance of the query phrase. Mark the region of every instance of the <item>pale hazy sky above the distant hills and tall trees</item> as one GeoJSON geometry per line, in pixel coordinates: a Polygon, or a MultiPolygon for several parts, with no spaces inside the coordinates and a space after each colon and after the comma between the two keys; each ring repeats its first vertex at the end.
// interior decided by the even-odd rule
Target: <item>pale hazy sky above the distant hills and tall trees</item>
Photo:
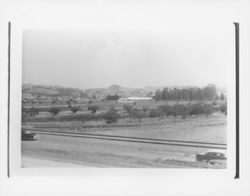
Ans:
{"type": "Polygon", "coordinates": [[[23,83],[98,88],[227,85],[233,25],[23,32],[23,83]]]}

